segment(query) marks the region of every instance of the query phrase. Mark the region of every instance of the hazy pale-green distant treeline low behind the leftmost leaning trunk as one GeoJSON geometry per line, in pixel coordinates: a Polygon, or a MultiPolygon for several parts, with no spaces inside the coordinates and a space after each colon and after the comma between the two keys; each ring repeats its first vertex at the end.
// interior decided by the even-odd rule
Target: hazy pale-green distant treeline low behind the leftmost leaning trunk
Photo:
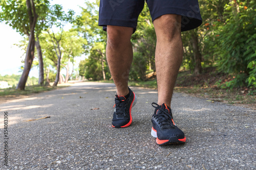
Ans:
{"type": "MultiPolygon", "coordinates": [[[[8,82],[8,85],[12,86],[12,87],[16,87],[19,81],[20,75],[5,75],[2,76],[0,75],[0,81],[6,81],[8,82]]],[[[27,81],[27,86],[32,86],[38,84],[38,78],[35,77],[28,77],[28,81],[27,81]]]]}

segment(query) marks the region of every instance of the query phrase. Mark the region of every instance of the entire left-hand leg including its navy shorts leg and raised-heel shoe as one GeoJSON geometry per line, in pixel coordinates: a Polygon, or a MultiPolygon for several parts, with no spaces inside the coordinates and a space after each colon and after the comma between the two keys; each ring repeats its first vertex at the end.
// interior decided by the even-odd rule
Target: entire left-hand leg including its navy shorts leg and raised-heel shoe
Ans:
{"type": "Polygon", "coordinates": [[[143,7],[144,0],[100,0],[99,26],[108,33],[106,60],[117,90],[112,119],[114,128],[128,127],[133,120],[131,111],[136,103],[136,95],[128,87],[133,61],[131,37],[143,7]]]}

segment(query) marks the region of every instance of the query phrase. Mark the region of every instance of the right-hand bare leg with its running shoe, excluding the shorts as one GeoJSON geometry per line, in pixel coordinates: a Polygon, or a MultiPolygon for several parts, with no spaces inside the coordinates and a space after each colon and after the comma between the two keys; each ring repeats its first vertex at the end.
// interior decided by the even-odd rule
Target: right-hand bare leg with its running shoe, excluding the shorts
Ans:
{"type": "Polygon", "coordinates": [[[159,145],[184,143],[185,134],[174,123],[170,102],[175,81],[182,62],[181,16],[162,15],[154,20],[157,35],[156,71],[158,85],[158,104],[152,116],[151,135],[159,145]]]}

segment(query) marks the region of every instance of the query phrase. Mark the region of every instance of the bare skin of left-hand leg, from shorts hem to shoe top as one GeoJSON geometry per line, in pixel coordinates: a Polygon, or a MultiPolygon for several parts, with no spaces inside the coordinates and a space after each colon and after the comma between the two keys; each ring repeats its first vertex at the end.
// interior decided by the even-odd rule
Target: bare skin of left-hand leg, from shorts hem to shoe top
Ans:
{"type": "Polygon", "coordinates": [[[131,43],[133,30],[130,27],[107,26],[106,59],[119,96],[129,93],[128,79],[133,61],[131,43]]]}

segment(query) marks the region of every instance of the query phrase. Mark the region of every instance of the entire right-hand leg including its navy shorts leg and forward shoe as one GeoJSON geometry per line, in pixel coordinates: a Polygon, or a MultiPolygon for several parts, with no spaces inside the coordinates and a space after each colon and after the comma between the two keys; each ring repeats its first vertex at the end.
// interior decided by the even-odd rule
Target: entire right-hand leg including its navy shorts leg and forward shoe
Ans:
{"type": "Polygon", "coordinates": [[[202,23],[198,0],[147,0],[147,5],[157,35],[158,104],[152,103],[155,112],[151,135],[159,145],[184,143],[185,134],[175,125],[170,105],[183,57],[181,31],[197,28],[202,23]]]}

